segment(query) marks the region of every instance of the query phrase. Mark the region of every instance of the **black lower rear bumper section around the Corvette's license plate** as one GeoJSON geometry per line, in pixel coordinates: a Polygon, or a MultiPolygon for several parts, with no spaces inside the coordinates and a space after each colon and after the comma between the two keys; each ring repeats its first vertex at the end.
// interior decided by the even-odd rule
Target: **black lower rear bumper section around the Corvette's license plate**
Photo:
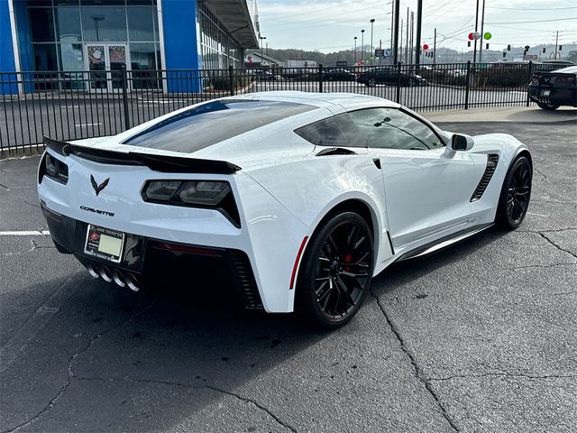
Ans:
{"type": "Polygon", "coordinates": [[[167,282],[183,289],[203,281],[210,286],[226,284],[234,288],[246,309],[263,308],[251,262],[241,250],[176,244],[127,233],[121,261],[112,263],[84,253],[86,222],[54,212],[43,203],[41,208],[59,251],[74,254],[93,276],[104,272],[103,279],[121,286],[130,281],[133,290],[161,287],[167,282]]]}

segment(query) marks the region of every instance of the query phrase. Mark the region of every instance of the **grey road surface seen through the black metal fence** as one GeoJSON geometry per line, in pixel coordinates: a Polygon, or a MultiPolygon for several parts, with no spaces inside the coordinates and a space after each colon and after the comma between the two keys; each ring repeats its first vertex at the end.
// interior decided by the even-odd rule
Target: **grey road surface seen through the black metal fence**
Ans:
{"type": "MultiPolygon", "coordinates": [[[[314,81],[257,82],[249,92],[273,90],[318,91],[314,81]]],[[[327,81],[324,92],[352,92],[397,100],[397,88],[379,85],[368,88],[356,82],[327,81]]],[[[462,108],[465,105],[463,87],[428,86],[400,88],[398,100],[417,111],[462,108]]],[[[159,115],[206,98],[228,96],[228,93],[206,93],[193,97],[164,97],[148,90],[135,91],[128,98],[129,124],[142,124],[159,115]]],[[[468,104],[475,106],[523,106],[527,103],[525,89],[471,90],[468,104]]],[[[46,93],[26,100],[0,101],[0,149],[16,145],[41,143],[42,136],[61,140],[118,134],[125,129],[124,105],[121,95],[68,92],[46,93]]]]}

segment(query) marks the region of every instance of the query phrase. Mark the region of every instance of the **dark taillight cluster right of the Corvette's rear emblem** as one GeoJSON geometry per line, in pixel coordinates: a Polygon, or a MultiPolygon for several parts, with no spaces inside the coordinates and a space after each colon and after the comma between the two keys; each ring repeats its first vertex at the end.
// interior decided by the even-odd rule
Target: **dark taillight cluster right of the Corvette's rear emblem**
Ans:
{"type": "Polygon", "coordinates": [[[224,180],[149,180],[142,189],[142,199],[172,206],[214,208],[234,226],[241,226],[233,190],[224,180]]]}

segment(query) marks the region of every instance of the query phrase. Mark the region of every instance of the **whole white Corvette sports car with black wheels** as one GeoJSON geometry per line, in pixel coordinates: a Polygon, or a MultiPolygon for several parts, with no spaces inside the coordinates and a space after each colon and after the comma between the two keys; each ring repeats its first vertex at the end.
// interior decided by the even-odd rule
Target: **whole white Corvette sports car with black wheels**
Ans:
{"type": "Polygon", "coordinates": [[[326,327],[352,318],[390,263],[517,228],[531,192],[531,155],[511,135],[448,133],[353,94],[225,97],[45,143],[50,235],[93,277],[139,290],[229,272],[246,308],[326,327]]]}

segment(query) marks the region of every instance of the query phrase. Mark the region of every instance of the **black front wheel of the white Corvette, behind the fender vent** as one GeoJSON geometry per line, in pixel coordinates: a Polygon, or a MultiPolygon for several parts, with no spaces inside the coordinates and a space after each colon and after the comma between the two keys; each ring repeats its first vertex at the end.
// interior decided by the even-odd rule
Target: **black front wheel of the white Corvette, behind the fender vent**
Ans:
{"type": "Polygon", "coordinates": [[[505,230],[515,230],[527,215],[531,198],[533,167],[524,156],[519,156],[507,171],[499,196],[495,224],[505,230]]]}

